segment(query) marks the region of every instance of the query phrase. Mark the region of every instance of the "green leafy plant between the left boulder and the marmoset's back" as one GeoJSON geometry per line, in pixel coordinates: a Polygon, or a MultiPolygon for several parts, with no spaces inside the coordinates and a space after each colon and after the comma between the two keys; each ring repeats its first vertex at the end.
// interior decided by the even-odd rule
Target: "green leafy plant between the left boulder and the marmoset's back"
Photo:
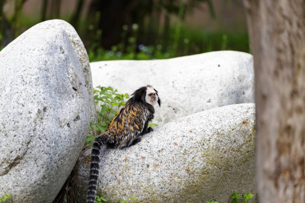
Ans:
{"type": "Polygon", "coordinates": [[[98,86],[93,93],[95,103],[100,110],[97,111],[97,123],[90,122],[89,130],[92,131],[92,135],[87,137],[87,144],[92,143],[94,137],[105,132],[108,123],[117,114],[117,110],[126,103],[124,100],[129,98],[127,93],[119,94],[118,90],[112,87],[98,86]]]}

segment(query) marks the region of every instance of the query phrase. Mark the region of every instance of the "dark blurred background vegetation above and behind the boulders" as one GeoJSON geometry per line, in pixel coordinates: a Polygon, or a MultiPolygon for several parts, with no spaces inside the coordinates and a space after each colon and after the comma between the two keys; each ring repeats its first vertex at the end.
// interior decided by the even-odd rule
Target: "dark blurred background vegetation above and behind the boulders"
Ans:
{"type": "Polygon", "coordinates": [[[91,62],[249,52],[241,0],[0,0],[0,49],[54,18],[75,27],[91,62]]]}

